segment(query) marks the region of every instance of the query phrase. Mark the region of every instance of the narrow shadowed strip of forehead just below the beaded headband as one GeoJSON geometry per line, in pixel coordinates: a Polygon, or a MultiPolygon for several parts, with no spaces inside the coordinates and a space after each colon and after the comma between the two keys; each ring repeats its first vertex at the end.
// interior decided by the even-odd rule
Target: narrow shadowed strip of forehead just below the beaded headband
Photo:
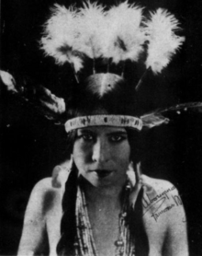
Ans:
{"type": "Polygon", "coordinates": [[[127,134],[126,129],[122,127],[114,127],[114,126],[90,126],[77,129],[77,133],[95,133],[95,134],[117,134],[123,133],[127,134]]]}

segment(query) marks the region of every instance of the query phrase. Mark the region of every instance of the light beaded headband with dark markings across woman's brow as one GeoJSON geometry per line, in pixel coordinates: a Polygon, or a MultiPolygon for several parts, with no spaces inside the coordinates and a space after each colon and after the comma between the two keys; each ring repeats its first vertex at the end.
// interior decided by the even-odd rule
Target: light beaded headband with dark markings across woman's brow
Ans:
{"type": "Polygon", "coordinates": [[[64,125],[67,133],[89,126],[129,127],[140,131],[142,121],[140,118],[126,115],[92,115],[73,118],[65,122],[64,125]]]}

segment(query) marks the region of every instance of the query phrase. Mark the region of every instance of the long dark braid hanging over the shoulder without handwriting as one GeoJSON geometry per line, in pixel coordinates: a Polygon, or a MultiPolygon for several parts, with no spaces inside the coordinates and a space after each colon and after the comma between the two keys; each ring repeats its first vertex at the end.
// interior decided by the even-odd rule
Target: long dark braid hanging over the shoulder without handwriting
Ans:
{"type": "Polygon", "coordinates": [[[76,235],[75,203],[77,194],[77,169],[73,169],[65,183],[65,192],[62,198],[61,239],[57,245],[57,254],[73,256],[73,242],[76,235]]]}

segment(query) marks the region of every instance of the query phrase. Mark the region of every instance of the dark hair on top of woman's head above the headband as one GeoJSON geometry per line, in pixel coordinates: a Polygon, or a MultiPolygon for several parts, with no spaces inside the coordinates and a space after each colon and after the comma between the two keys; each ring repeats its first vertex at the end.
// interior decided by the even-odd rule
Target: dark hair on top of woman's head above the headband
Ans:
{"type": "Polygon", "coordinates": [[[66,98],[67,119],[89,114],[139,115],[134,85],[115,74],[95,74],[66,98]]]}

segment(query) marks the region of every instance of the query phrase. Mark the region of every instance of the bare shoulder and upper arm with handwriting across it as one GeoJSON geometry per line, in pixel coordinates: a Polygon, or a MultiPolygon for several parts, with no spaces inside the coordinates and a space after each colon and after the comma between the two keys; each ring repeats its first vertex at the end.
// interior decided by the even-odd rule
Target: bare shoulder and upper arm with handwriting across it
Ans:
{"type": "Polygon", "coordinates": [[[187,255],[185,210],[178,190],[170,181],[142,175],[142,219],[151,255],[163,248],[166,255],[187,255]]]}

